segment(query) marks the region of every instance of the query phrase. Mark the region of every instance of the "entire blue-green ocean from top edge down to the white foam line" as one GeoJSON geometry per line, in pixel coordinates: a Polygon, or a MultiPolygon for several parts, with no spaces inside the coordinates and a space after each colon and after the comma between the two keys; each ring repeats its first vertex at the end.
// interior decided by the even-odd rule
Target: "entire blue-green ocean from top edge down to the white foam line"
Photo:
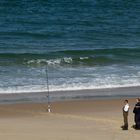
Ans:
{"type": "Polygon", "coordinates": [[[0,94],[140,86],[139,0],[1,0],[0,94]]]}

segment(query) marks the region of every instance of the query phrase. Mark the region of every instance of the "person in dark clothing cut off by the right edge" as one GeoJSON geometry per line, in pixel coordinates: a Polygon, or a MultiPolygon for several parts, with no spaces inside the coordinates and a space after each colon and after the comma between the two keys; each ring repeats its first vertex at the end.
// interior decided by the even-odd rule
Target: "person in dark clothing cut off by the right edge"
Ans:
{"type": "Polygon", "coordinates": [[[136,104],[133,113],[135,114],[134,116],[135,125],[133,126],[133,128],[140,129],[140,98],[136,99],[136,104]]]}

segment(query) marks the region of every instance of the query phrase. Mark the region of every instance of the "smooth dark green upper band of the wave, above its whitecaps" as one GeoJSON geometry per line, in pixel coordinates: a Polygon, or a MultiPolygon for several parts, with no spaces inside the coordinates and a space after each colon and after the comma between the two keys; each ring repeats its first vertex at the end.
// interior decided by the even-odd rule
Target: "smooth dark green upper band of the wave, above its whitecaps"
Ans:
{"type": "Polygon", "coordinates": [[[140,48],[107,48],[107,49],[94,49],[94,50],[63,50],[63,51],[52,51],[48,53],[0,53],[1,57],[44,57],[44,56],[59,56],[59,55],[71,55],[71,56],[79,56],[79,55],[134,55],[140,57],[140,48]]]}

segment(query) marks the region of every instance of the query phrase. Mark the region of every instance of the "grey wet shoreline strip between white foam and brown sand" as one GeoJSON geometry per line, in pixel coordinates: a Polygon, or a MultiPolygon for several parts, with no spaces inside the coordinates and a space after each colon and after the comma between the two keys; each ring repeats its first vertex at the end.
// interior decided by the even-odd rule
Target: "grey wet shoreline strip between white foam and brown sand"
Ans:
{"type": "MultiPolygon", "coordinates": [[[[139,96],[140,87],[121,87],[92,90],[54,91],[49,92],[50,102],[96,99],[123,99],[139,96]]],[[[0,104],[46,103],[48,91],[0,94],[0,104]]]]}

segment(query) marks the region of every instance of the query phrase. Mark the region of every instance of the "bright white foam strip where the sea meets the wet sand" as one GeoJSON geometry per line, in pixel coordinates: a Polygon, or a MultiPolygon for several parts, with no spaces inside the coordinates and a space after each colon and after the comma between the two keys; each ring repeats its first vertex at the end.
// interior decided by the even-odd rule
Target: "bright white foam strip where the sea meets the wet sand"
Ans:
{"type": "MultiPolygon", "coordinates": [[[[108,78],[108,80],[111,78],[108,78]]],[[[138,80],[126,80],[126,83],[119,82],[116,83],[115,81],[113,82],[107,82],[107,79],[105,81],[101,80],[96,80],[97,83],[81,83],[78,82],[78,80],[74,81],[66,81],[65,83],[61,85],[49,85],[49,89],[51,92],[53,91],[77,91],[77,90],[92,90],[92,89],[106,89],[106,88],[121,88],[121,87],[137,87],[140,86],[140,81],[138,80]],[[100,81],[100,84],[99,84],[100,81]],[[106,83],[104,83],[106,82],[106,83]]],[[[47,91],[47,86],[44,85],[28,85],[28,86],[17,86],[17,87],[8,87],[8,88],[0,88],[0,94],[3,93],[30,93],[30,92],[46,92],[47,91]]]]}

